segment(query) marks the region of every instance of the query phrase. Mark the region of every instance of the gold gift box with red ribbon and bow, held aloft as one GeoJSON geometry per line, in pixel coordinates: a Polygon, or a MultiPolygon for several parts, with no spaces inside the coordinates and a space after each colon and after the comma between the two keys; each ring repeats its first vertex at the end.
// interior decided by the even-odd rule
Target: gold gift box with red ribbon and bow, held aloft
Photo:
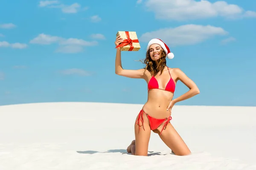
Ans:
{"type": "Polygon", "coordinates": [[[118,31],[116,37],[119,35],[124,40],[121,44],[117,45],[116,48],[120,47],[121,51],[140,50],[140,42],[135,31],[118,31]]]}

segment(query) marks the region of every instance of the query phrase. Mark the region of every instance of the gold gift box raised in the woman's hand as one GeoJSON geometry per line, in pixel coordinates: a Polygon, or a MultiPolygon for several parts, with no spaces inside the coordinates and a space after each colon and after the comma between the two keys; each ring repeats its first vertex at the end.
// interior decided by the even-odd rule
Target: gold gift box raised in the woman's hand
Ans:
{"type": "MultiPolygon", "coordinates": [[[[137,37],[137,34],[136,34],[135,31],[118,31],[117,34],[116,34],[116,37],[120,35],[120,37],[122,39],[124,39],[125,42],[127,42],[127,40],[129,39],[127,37],[127,34],[130,37],[130,39],[132,40],[132,45],[133,45],[134,48],[131,49],[130,44],[128,44],[128,45],[125,45],[123,47],[120,47],[120,50],[121,51],[139,51],[140,50],[140,42],[138,40],[138,37],[137,37]]],[[[122,42],[122,43],[125,43],[125,42],[122,42]]]]}

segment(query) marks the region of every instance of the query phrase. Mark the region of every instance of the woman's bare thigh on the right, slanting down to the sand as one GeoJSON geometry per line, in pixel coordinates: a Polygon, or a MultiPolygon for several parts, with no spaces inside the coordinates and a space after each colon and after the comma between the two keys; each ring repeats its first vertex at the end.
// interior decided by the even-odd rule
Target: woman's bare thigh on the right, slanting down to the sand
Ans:
{"type": "Polygon", "coordinates": [[[157,129],[159,132],[158,134],[163,142],[173,151],[173,153],[175,153],[175,155],[185,156],[191,153],[186,143],[183,141],[171,123],[168,123],[166,129],[163,130],[160,135],[162,128],[163,125],[157,129]]]}

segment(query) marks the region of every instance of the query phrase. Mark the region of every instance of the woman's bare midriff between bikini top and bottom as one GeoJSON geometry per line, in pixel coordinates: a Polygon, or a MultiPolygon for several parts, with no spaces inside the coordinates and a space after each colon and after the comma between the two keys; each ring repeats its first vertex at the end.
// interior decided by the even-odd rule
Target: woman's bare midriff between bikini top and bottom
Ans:
{"type": "Polygon", "coordinates": [[[148,91],[148,101],[143,106],[143,111],[156,119],[169,117],[170,110],[167,111],[167,107],[172,98],[172,92],[152,89],[148,91]]]}

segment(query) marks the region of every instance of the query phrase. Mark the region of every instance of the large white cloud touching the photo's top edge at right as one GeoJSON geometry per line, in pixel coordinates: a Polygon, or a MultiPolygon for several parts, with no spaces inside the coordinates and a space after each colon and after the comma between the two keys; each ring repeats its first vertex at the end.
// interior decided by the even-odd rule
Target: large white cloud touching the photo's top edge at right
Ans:
{"type": "Polygon", "coordinates": [[[244,14],[253,17],[252,11],[245,11],[238,5],[225,1],[211,3],[207,0],[145,0],[148,11],[162,20],[195,20],[210,17],[241,18],[244,14]]]}

